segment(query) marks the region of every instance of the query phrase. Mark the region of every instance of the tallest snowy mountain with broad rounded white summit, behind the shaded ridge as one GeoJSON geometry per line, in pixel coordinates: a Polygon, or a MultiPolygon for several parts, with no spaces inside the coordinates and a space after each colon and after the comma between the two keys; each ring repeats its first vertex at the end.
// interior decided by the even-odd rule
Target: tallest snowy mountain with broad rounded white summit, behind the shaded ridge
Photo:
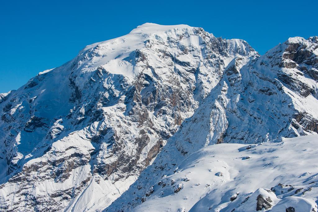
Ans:
{"type": "Polygon", "coordinates": [[[106,208],[223,76],[245,41],[143,24],[0,96],[0,209],[106,208]]]}

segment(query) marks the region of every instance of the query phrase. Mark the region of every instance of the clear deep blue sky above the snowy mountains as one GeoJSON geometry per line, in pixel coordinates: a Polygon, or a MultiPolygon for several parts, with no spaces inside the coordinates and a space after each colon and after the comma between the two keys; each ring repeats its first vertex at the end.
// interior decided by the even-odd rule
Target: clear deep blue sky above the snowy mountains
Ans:
{"type": "Polygon", "coordinates": [[[203,27],[217,37],[244,39],[264,54],[289,37],[318,35],[317,2],[2,1],[0,92],[146,22],[203,27]]]}

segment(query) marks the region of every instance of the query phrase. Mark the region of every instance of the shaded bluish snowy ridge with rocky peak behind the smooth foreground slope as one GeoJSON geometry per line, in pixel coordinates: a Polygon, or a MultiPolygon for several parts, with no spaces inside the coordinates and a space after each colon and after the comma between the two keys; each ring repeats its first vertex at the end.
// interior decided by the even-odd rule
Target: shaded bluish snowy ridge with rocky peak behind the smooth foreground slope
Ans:
{"type": "Polygon", "coordinates": [[[220,137],[225,143],[255,144],[317,134],[317,41],[290,38],[263,56],[234,58],[193,116],[108,211],[146,201],[149,188],[163,175],[220,137]]]}

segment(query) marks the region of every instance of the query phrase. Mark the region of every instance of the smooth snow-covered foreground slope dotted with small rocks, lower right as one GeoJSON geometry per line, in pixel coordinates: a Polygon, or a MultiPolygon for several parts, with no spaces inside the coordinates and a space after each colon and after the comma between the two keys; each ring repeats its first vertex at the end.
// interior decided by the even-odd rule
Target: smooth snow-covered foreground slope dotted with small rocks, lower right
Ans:
{"type": "Polygon", "coordinates": [[[132,211],[317,211],[317,157],[317,135],[204,147],[157,172],[132,211]]]}

